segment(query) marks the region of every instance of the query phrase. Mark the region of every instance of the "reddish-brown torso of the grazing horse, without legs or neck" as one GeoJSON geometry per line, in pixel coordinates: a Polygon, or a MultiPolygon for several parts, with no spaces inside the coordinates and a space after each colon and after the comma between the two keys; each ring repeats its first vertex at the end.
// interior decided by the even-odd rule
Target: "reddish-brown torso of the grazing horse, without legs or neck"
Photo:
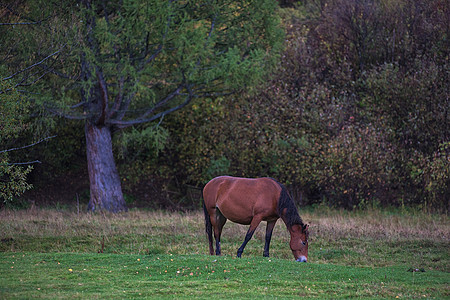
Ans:
{"type": "Polygon", "coordinates": [[[281,187],[271,178],[221,176],[203,190],[206,208],[219,209],[233,222],[250,224],[255,215],[262,220],[278,219],[277,203],[281,187]]]}

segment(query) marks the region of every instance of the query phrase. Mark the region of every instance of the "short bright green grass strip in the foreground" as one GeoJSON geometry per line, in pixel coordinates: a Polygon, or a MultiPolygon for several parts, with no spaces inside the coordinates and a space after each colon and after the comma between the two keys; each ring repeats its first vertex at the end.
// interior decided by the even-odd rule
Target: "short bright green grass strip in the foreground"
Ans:
{"type": "Polygon", "coordinates": [[[6,298],[442,298],[448,273],[207,255],[2,253],[6,298]]]}

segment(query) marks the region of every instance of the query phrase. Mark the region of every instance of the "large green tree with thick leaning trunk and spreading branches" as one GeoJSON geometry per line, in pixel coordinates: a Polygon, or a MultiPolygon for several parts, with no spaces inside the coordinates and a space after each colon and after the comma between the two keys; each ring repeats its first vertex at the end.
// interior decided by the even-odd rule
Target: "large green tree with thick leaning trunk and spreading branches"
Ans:
{"type": "Polygon", "coordinates": [[[34,93],[36,107],[84,121],[88,209],[126,210],[112,133],[260,82],[282,38],[275,8],[270,0],[16,1],[2,8],[2,50],[16,50],[3,61],[12,75],[2,77],[34,93]]]}

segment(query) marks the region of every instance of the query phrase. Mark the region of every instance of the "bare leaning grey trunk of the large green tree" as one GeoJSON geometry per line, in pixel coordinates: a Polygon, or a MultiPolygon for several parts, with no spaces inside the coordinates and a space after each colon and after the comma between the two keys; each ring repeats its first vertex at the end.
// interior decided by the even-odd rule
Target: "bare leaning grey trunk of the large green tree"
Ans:
{"type": "Polygon", "coordinates": [[[88,210],[127,210],[112,153],[111,129],[86,122],[86,153],[91,198],[88,210]]]}

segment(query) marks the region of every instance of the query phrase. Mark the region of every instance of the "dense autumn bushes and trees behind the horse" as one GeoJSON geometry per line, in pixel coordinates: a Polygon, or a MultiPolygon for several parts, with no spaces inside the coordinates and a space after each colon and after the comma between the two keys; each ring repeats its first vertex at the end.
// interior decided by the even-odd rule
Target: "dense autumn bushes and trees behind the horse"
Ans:
{"type": "MultiPolygon", "coordinates": [[[[285,50],[265,85],[114,136],[125,191],[151,184],[149,201],[196,206],[189,191],[214,176],[270,176],[301,205],[448,210],[449,8],[314,0],[280,9],[285,50]]],[[[36,150],[54,170],[84,151],[82,135],[63,131],[36,150]]]]}

